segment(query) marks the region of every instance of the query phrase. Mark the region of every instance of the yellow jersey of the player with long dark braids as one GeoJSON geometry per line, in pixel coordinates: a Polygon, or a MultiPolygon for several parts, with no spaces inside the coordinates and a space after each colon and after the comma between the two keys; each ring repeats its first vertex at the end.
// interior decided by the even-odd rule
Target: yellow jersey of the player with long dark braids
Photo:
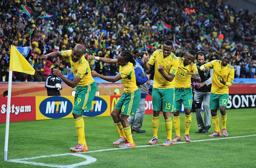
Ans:
{"type": "Polygon", "coordinates": [[[125,93],[131,93],[138,89],[132,63],[128,62],[124,66],[119,66],[119,74],[122,78],[121,83],[124,86],[125,93]]]}

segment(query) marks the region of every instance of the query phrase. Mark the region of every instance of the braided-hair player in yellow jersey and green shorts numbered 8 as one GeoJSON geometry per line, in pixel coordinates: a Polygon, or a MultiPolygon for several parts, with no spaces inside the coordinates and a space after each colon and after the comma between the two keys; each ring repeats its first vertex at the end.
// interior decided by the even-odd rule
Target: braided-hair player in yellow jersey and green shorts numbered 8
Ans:
{"type": "Polygon", "coordinates": [[[136,65],[136,62],[133,60],[133,55],[128,51],[123,51],[117,56],[117,59],[102,57],[95,57],[95,59],[106,63],[116,63],[116,65],[119,66],[119,73],[115,75],[115,77],[101,75],[95,70],[91,71],[91,75],[113,83],[121,80],[121,83],[124,86],[124,93],[116,103],[114,110],[111,112],[120,138],[113,142],[113,145],[125,143],[124,145],[120,145],[119,148],[134,148],[135,143],[132,139],[131,126],[127,118],[129,116],[135,116],[141,95],[140,90],[136,85],[136,77],[133,67],[136,65]],[[119,116],[120,114],[121,116],[119,116]]]}

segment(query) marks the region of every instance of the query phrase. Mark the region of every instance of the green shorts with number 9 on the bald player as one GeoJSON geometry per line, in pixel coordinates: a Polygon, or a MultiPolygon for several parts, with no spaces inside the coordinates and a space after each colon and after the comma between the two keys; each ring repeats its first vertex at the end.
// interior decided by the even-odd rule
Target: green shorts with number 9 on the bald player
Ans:
{"type": "Polygon", "coordinates": [[[86,86],[77,86],[75,90],[74,100],[74,114],[83,115],[84,110],[91,110],[91,102],[93,102],[94,96],[97,91],[97,85],[95,82],[86,86]]]}

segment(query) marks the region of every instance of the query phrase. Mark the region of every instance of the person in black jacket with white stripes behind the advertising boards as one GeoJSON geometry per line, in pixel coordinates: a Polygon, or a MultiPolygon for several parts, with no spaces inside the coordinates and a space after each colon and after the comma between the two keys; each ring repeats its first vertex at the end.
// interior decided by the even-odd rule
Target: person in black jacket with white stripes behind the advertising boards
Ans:
{"type": "Polygon", "coordinates": [[[52,68],[52,74],[49,75],[45,82],[48,96],[60,96],[59,90],[62,89],[61,79],[53,75],[54,69],[55,68],[52,68]]]}

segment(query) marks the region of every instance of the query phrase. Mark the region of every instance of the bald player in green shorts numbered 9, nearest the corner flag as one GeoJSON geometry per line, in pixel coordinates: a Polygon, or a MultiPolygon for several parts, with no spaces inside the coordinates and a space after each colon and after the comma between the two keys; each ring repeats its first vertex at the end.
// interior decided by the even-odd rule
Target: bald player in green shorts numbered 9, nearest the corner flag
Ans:
{"type": "Polygon", "coordinates": [[[83,113],[85,110],[91,110],[91,102],[93,101],[97,91],[97,85],[94,79],[91,77],[89,64],[83,56],[84,51],[84,46],[78,44],[72,50],[52,52],[46,55],[41,55],[41,58],[44,59],[48,57],[54,58],[63,56],[68,57],[70,60],[71,68],[74,74],[73,80],[65,78],[64,75],[61,74],[57,69],[53,71],[53,74],[60,77],[70,87],[74,88],[77,86],[72,114],[75,120],[78,143],[76,147],[70,148],[70,150],[74,152],[88,151],[85,141],[83,113]]]}

